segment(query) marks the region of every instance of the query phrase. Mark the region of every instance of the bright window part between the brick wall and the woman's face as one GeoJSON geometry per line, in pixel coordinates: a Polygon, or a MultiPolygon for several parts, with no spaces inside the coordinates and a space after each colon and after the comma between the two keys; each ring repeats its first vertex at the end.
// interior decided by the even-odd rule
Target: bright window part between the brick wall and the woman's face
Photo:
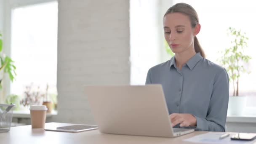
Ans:
{"type": "Polygon", "coordinates": [[[144,85],[150,67],[170,59],[165,51],[163,8],[171,1],[130,0],[131,84],[144,85]]]}

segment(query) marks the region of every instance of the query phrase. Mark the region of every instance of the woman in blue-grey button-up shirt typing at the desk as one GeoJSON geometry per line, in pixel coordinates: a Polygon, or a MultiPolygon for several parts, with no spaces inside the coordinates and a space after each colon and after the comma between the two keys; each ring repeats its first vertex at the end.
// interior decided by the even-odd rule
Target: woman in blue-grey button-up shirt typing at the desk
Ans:
{"type": "Polygon", "coordinates": [[[229,99],[226,70],[205,59],[196,35],[198,16],[177,3],[163,18],[165,40],[175,56],[149,69],[146,84],[160,83],[172,126],[198,131],[225,131],[229,99]]]}

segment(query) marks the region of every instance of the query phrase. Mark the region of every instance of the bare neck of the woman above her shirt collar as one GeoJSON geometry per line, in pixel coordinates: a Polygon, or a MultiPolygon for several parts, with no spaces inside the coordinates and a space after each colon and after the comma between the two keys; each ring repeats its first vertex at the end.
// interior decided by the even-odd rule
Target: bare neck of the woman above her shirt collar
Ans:
{"type": "Polygon", "coordinates": [[[195,56],[195,54],[195,48],[189,48],[188,50],[183,51],[181,53],[175,53],[175,62],[179,70],[181,70],[184,64],[186,64],[190,58],[195,56]]]}

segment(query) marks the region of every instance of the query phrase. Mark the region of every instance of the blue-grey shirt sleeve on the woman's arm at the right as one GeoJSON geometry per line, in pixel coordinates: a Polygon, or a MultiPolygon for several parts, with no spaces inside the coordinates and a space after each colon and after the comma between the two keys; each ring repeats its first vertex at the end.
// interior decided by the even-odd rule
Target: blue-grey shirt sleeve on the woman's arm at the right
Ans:
{"type": "Polygon", "coordinates": [[[229,78],[225,69],[216,75],[206,118],[197,117],[197,131],[225,131],[229,101],[229,78]]]}

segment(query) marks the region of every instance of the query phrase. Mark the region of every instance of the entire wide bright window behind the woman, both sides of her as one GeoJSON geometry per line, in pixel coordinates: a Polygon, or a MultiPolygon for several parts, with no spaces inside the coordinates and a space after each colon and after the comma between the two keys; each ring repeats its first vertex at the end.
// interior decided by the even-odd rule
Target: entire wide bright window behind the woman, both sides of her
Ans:
{"type": "MultiPolygon", "coordinates": [[[[256,10],[251,1],[172,0],[170,3],[164,3],[164,1],[131,0],[131,84],[144,84],[147,70],[168,60],[168,57],[163,57],[162,54],[166,53],[161,41],[163,40],[163,14],[171,5],[181,2],[192,5],[197,11],[201,24],[201,31],[197,37],[206,58],[214,63],[219,64],[217,59],[221,57],[221,53],[218,51],[230,46],[227,36],[229,27],[246,32],[249,40],[245,53],[252,57],[246,67],[251,74],[241,75],[239,90],[240,95],[248,96],[245,113],[253,114],[249,109],[256,109],[253,103],[256,101],[256,56],[253,55],[256,52],[254,40],[256,20],[248,16],[248,13],[256,13],[256,10]]],[[[230,95],[232,91],[230,86],[230,95]]],[[[255,110],[254,114],[256,114],[255,110]]]]}

